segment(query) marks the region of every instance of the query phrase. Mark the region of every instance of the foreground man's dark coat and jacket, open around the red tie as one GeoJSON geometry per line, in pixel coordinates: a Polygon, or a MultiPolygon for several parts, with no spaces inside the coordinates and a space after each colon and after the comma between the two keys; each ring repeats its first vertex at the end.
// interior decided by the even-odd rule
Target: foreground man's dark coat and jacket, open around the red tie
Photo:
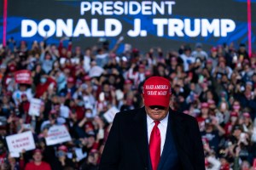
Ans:
{"type": "MultiPolygon", "coordinates": [[[[172,169],[168,167],[173,148],[168,144],[171,135],[177,150],[177,169],[204,170],[201,134],[195,118],[171,109],[158,169],[172,169]]],[[[117,113],[102,154],[100,170],[151,169],[148,162],[150,161],[145,108],[117,113]]]]}

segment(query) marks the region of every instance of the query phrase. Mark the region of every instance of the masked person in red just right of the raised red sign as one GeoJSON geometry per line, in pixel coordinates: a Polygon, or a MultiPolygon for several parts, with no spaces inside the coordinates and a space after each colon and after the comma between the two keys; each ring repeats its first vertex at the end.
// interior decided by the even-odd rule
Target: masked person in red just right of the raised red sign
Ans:
{"type": "Polygon", "coordinates": [[[44,74],[41,75],[40,77],[40,83],[37,85],[36,87],[36,94],[35,97],[36,98],[40,98],[43,96],[44,92],[47,91],[47,89],[49,88],[49,85],[51,83],[54,83],[56,85],[56,82],[53,78],[49,77],[48,75],[44,74]]]}

